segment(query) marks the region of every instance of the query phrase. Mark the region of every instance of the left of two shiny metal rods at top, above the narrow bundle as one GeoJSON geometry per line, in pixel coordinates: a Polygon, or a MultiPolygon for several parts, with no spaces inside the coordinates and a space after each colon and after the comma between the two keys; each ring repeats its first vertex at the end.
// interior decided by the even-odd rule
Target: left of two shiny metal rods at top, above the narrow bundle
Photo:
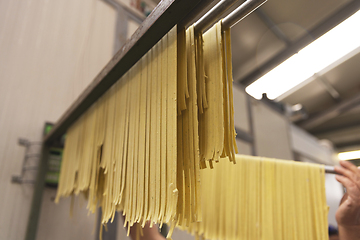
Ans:
{"type": "Polygon", "coordinates": [[[223,14],[236,2],[237,0],[221,0],[218,2],[194,24],[195,33],[206,30],[207,27],[216,21],[221,16],[221,14],[223,14]]]}

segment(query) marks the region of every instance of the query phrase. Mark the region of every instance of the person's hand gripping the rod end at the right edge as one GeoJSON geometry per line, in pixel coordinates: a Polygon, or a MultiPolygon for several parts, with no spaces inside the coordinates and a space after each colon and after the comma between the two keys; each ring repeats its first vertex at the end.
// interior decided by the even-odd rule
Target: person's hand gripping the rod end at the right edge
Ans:
{"type": "Polygon", "coordinates": [[[340,161],[340,166],[336,166],[335,171],[341,174],[336,175],[336,180],[346,188],[346,194],[335,215],[340,239],[360,239],[360,169],[351,162],[340,161]],[[341,238],[341,232],[347,236],[351,234],[352,238],[341,238]]]}

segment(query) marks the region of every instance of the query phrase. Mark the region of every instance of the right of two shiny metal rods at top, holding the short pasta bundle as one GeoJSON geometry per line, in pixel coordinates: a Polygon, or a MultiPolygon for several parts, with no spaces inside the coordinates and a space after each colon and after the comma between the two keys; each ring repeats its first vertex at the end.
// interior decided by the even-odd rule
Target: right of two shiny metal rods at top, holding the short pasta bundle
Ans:
{"type": "Polygon", "coordinates": [[[263,5],[266,1],[267,0],[247,0],[224,18],[222,21],[223,27],[231,28],[244,19],[247,15],[263,5]]]}

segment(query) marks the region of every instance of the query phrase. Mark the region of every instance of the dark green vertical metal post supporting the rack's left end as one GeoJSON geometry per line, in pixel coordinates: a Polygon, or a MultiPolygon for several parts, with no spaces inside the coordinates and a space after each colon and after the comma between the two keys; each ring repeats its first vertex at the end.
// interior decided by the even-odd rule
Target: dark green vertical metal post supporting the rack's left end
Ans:
{"type": "Polygon", "coordinates": [[[45,188],[45,176],[50,147],[43,142],[41,147],[41,157],[34,185],[29,220],[26,228],[25,240],[35,240],[40,218],[41,203],[45,188]]]}

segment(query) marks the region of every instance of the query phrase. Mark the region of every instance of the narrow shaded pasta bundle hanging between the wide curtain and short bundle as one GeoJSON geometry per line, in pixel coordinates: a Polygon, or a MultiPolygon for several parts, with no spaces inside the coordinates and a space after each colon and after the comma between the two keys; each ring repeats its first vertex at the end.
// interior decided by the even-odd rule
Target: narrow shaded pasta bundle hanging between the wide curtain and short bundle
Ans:
{"type": "Polygon", "coordinates": [[[178,35],[178,224],[201,221],[200,154],[194,27],[178,35]],[[181,53],[181,54],[180,54],[181,53]],[[184,54],[185,53],[185,54],[184,54]],[[185,71],[181,71],[185,70],[185,71]]]}

